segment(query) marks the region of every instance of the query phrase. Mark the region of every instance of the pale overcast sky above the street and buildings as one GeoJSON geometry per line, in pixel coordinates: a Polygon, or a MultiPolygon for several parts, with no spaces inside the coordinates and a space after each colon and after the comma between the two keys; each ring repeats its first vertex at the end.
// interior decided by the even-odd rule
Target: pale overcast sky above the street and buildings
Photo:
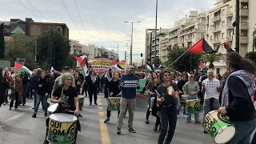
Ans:
{"type": "MultiPolygon", "coordinates": [[[[63,22],[70,29],[70,38],[81,43],[90,42],[112,50],[115,48],[117,51],[114,41],[123,42],[119,44],[120,59],[124,59],[126,43],[130,43],[131,34],[131,24],[124,21],[140,21],[141,23],[134,24],[133,52],[145,53],[145,30],[154,28],[156,0],[75,0],[85,29],[74,0],[63,2],[74,23],[62,0],[1,0],[0,21],[10,21],[10,18],[33,18],[35,22],[63,22]]],[[[209,10],[214,6],[214,2],[215,0],[158,0],[158,28],[170,28],[175,21],[188,15],[190,10],[209,10]]],[[[134,56],[133,59],[142,58],[134,56]]]]}

